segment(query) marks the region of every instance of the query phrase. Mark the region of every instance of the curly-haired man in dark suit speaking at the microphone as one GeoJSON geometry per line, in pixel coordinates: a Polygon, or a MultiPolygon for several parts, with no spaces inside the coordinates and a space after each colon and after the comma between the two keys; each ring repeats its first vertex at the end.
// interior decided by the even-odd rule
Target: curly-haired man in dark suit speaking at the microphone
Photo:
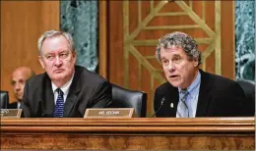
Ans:
{"type": "Polygon", "coordinates": [[[243,116],[242,88],[199,69],[201,53],[191,36],[179,31],[166,34],[159,40],[156,57],[167,79],[155,92],[157,117],[243,116]]]}

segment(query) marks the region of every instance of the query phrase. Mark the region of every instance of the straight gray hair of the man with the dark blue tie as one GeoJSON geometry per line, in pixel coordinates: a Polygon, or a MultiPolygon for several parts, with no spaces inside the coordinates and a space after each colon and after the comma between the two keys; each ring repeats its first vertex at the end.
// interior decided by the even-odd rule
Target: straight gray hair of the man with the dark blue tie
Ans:
{"type": "Polygon", "coordinates": [[[60,36],[60,35],[64,36],[68,40],[71,50],[75,51],[74,40],[70,33],[64,32],[64,31],[57,31],[57,30],[49,30],[42,33],[37,41],[37,49],[38,49],[39,55],[41,55],[41,46],[45,39],[49,37],[60,36]]]}

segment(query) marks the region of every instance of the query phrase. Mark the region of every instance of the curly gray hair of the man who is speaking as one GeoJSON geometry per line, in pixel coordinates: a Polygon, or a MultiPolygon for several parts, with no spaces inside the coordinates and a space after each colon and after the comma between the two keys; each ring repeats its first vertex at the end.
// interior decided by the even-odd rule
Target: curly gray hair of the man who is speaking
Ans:
{"type": "Polygon", "coordinates": [[[190,60],[198,58],[198,66],[202,63],[201,52],[197,48],[196,40],[180,31],[168,33],[159,39],[156,51],[158,61],[160,61],[160,48],[168,48],[172,45],[181,47],[190,60]]]}

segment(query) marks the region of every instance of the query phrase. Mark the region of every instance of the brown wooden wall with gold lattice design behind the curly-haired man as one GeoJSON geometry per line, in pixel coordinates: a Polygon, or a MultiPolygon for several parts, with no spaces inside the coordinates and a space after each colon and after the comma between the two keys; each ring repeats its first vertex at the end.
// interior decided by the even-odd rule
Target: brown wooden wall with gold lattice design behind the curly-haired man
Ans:
{"type": "Polygon", "coordinates": [[[201,68],[234,78],[232,1],[108,1],[108,5],[107,77],[146,91],[148,116],[153,114],[154,91],[165,81],[154,61],[156,44],[168,32],[192,35],[203,52],[201,68]]]}

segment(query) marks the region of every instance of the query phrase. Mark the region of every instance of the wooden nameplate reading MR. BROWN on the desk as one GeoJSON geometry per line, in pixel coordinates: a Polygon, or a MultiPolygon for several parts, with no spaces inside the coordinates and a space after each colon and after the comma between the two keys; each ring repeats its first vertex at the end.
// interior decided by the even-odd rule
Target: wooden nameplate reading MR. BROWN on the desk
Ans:
{"type": "Polygon", "coordinates": [[[134,118],[133,108],[87,109],[84,118],[134,118]]]}

